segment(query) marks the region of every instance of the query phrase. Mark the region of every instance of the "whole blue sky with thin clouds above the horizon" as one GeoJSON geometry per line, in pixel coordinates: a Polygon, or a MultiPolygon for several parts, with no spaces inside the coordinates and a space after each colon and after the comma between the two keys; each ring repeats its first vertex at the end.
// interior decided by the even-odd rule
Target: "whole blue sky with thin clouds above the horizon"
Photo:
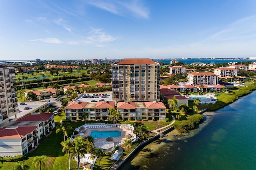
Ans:
{"type": "Polygon", "coordinates": [[[255,57],[255,0],[0,0],[0,60],[255,57]]]}

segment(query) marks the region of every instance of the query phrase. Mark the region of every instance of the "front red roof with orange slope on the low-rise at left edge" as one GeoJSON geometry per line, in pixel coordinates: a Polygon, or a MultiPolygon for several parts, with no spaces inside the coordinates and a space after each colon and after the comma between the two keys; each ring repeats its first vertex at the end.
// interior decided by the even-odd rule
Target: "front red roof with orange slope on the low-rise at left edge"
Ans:
{"type": "Polygon", "coordinates": [[[36,126],[17,127],[17,128],[4,127],[0,129],[0,139],[23,138],[27,134],[33,132],[36,128],[37,128],[36,126]]]}

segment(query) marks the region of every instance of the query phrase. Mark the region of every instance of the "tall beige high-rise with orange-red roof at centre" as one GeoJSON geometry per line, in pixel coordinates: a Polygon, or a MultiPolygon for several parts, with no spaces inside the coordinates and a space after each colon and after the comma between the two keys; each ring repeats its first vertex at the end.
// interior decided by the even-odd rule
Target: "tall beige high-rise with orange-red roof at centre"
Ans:
{"type": "Polygon", "coordinates": [[[116,101],[159,101],[160,65],[151,59],[123,59],[112,65],[116,101]]]}

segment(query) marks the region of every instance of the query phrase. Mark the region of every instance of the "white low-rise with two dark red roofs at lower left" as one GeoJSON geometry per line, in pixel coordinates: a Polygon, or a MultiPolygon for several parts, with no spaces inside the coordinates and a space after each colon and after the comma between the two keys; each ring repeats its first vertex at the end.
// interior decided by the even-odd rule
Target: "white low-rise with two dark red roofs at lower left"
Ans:
{"type": "Polygon", "coordinates": [[[0,129],[0,156],[25,155],[55,127],[53,113],[31,113],[0,129]]]}

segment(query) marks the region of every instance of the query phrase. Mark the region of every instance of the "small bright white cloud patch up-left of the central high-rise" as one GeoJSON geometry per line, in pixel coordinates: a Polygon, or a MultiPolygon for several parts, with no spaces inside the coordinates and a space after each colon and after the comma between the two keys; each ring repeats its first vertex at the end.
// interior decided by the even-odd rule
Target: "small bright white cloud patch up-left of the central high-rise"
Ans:
{"type": "Polygon", "coordinates": [[[99,43],[108,43],[118,39],[109,34],[106,34],[105,32],[102,31],[102,29],[93,28],[92,31],[89,32],[89,34],[90,36],[86,37],[86,40],[84,41],[84,43],[94,44],[98,47],[102,47],[102,44],[99,44],[99,43]]]}

